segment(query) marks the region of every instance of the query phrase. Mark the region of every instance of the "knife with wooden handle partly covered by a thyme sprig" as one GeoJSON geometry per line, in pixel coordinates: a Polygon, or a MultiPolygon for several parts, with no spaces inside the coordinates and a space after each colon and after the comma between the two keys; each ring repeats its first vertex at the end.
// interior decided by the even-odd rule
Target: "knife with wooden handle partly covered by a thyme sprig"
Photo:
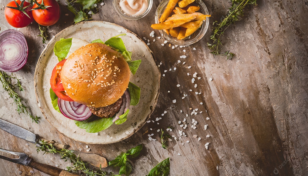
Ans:
{"type": "MultiPolygon", "coordinates": [[[[36,142],[38,140],[47,141],[47,140],[43,139],[42,137],[40,137],[39,135],[34,134],[34,133],[32,133],[32,132],[30,132],[26,129],[23,129],[20,126],[14,125],[14,124],[12,124],[8,121],[2,120],[1,118],[0,118],[0,129],[6,131],[6,132],[8,132],[8,133],[10,133],[10,134],[12,134],[16,137],[19,137],[19,138],[24,139],[28,142],[31,142],[33,144],[36,144],[36,142]]],[[[69,145],[58,144],[56,142],[53,142],[53,144],[58,149],[64,149],[64,148],[69,147],[69,145]]],[[[108,166],[106,158],[104,158],[100,155],[97,155],[95,153],[82,153],[82,152],[77,152],[77,151],[74,151],[74,153],[77,156],[79,155],[79,157],[83,158],[83,160],[85,160],[86,162],[89,162],[92,166],[101,167],[101,168],[108,166]]]]}

